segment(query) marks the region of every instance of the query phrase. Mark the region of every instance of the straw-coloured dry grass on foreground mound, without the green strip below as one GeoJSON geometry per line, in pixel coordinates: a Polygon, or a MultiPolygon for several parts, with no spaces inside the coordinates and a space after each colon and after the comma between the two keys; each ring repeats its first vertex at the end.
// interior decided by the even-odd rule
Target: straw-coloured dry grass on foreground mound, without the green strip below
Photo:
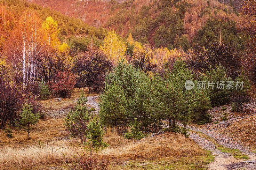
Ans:
{"type": "Polygon", "coordinates": [[[103,157],[111,159],[162,159],[182,158],[187,156],[204,155],[194,141],[182,135],[173,133],[161,134],[156,137],[144,138],[136,143],[123,145],[117,148],[106,148],[101,152],[103,157]]]}

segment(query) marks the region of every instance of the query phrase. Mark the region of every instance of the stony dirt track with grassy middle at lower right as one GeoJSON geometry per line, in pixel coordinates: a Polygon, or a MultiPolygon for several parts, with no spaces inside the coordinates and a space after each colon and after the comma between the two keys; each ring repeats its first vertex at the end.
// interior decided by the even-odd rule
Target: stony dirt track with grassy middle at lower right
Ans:
{"type": "Polygon", "coordinates": [[[256,170],[256,155],[231,138],[218,132],[206,133],[193,127],[190,127],[189,134],[197,144],[212,152],[214,161],[208,165],[209,170],[256,170]],[[231,153],[228,153],[229,149],[232,149],[231,153]],[[233,149],[238,149],[237,154],[246,155],[249,159],[235,158],[236,151],[233,149]]]}

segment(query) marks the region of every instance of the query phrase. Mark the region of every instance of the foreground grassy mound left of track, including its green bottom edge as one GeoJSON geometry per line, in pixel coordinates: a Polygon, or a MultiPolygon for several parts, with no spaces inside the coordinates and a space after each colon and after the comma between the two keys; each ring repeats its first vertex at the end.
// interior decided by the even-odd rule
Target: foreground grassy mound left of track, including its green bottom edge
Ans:
{"type": "Polygon", "coordinates": [[[210,152],[175,133],[108,147],[100,156],[111,159],[110,169],[207,169],[207,164],[213,161],[210,152]]]}

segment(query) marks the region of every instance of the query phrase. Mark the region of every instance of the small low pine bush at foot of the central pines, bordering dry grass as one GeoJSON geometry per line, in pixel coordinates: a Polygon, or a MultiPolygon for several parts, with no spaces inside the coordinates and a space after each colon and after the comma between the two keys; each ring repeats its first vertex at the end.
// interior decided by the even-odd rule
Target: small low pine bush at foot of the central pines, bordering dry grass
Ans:
{"type": "Polygon", "coordinates": [[[132,126],[129,126],[131,128],[131,131],[127,131],[124,134],[124,137],[130,140],[140,140],[145,137],[145,134],[140,131],[139,126],[140,124],[138,124],[137,119],[134,118],[134,124],[132,126]]]}

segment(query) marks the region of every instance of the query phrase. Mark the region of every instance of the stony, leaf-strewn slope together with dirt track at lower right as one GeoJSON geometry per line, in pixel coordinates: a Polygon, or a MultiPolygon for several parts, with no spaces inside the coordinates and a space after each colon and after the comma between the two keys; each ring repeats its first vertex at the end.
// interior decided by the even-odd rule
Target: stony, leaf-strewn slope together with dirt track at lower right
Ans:
{"type": "Polygon", "coordinates": [[[209,169],[256,169],[255,105],[256,100],[245,104],[242,113],[232,112],[231,105],[213,107],[209,110],[212,123],[187,126],[189,137],[215,155],[209,169]],[[227,119],[224,119],[225,115],[227,119]],[[236,152],[249,159],[234,158],[236,152]]]}

